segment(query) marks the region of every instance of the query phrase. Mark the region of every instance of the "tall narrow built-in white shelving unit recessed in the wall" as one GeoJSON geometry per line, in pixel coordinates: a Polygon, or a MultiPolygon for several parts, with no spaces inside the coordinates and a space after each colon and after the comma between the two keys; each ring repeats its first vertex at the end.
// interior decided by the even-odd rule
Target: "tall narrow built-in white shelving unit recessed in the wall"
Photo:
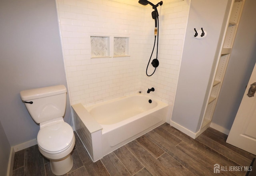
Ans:
{"type": "Polygon", "coordinates": [[[239,25],[240,16],[245,0],[233,0],[231,4],[231,11],[226,24],[226,32],[224,32],[222,40],[222,49],[218,56],[218,61],[214,71],[214,79],[210,88],[208,103],[206,104],[204,116],[202,119],[200,131],[206,130],[212,121],[214,109],[220,93],[220,88],[224,79],[228,60],[232,52],[232,46],[236,38],[236,31],[239,25]]]}

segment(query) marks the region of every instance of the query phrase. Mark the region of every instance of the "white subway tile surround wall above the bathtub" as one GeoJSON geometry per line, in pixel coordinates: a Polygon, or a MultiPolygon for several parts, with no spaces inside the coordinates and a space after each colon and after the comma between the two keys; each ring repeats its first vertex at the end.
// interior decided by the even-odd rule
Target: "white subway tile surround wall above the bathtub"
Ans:
{"type": "MultiPolygon", "coordinates": [[[[155,91],[150,94],[172,105],[190,0],[164,0],[158,7],[160,65],[151,77],[146,76],[146,66],[154,44],[152,6],[142,6],[138,0],[56,0],[56,4],[71,105],[146,93],[151,87],[155,91]],[[91,58],[90,36],[109,36],[111,57],[91,58]],[[113,57],[114,37],[129,38],[129,57],[113,57]]],[[[150,64],[148,73],[152,71],[150,64]]]]}

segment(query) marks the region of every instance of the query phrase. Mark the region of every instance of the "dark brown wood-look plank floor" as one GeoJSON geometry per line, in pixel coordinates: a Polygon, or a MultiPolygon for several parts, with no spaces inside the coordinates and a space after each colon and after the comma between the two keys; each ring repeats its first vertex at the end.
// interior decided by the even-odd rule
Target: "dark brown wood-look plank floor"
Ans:
{"type": "MultiPolygon", "coordinates": [[[[92,162],[76,132],[74,166],[64,176],[244,176],[245,171],[214,174],[214,164],[250,166],[253,154],[227,144],[227,135],[212,128],[196,140],[165,123],[92,162]]],[[[32,146],[14,156],[13,176],[54,176],[49,160],[32,146]]]]}

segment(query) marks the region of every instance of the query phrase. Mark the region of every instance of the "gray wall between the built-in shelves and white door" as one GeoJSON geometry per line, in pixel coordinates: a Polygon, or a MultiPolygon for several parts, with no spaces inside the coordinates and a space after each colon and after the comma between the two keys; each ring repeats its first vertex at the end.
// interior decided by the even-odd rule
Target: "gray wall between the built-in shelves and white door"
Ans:
{"type": "MultiPolygon", "coordinates": [[[[230,130],[256,62],[255,0],[246,0],[212,122],[230,130]]],[[[256,80],[255,80],[256,81],[256,80]]]]}

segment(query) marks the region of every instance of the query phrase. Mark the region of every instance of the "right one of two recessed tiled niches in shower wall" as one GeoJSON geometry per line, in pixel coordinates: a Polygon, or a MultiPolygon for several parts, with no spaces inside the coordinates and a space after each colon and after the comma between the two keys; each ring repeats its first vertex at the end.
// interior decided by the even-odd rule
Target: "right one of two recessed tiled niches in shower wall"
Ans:
{"type": "Polygon", "coordinates": [[[114,57],[129,55],[129,38],[114,37],[114,57]]]}

